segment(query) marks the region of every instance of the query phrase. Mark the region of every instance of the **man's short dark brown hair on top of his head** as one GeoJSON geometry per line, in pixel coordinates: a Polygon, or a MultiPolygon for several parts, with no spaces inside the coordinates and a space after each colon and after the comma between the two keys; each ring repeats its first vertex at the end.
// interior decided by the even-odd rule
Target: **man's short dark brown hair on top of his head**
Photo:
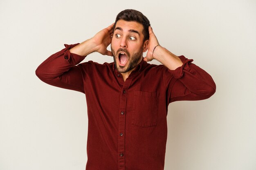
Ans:
{"type": "Polygon", "coordinates": [[[149,32],[148,27],[150,26],[150,22],[148,18],[146,18],[145,15],[143,15],[141,12],[136,11],[134,9],[126,9],[124,11],[121,11],[116,18],[114,29],[116,27],[118,20],[125,20],[125,21],[136,21],[143,25],[143,35],[144,35],[144,42],[149,39],[149,32]]]}

